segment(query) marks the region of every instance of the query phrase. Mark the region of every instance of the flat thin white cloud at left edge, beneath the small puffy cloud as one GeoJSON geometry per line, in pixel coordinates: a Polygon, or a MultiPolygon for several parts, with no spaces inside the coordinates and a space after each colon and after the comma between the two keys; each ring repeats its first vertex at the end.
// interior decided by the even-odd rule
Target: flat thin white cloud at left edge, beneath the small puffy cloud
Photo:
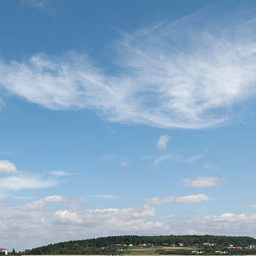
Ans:
{"type": "Polygon", "coordinates": [[[9,176],[0,179],[0,188],[18,191],[20,189],[45,189],[58,184],[53,179],[43,179],[39,176],[9,176]]]}

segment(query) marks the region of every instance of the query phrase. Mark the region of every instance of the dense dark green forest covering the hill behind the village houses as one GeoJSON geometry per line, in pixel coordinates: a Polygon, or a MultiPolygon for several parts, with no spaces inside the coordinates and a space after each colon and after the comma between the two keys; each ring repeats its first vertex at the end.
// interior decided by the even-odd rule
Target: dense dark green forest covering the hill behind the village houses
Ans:
{"type": "MultiPolygon", "coordinates": [[[[116,255],[127,254],[129,244],[138,246],[139,244],[154,245],[156,255],[191,255],[191,249],[185,247],[195,246],[203,250],[203,254],[213,254],[217,249],[225,249],[228,254],[241,255],[241,250],[236,249],[236,246],[245,247],[249,244],[256,244],[255,238],[247,236],[108,236],[101,238],[92,238],[78,241],[65,241],[58,244],[48,244],[34,249],[27,249],[23,252],[24,255],[116,255]],[[163,250],[170,244],[184,244],[184,249],[163,250]],[[203,246],[204,243],[214,244],[213,246],[203,246]],[[227,248],[233,245],[233,248],[227,248]],[[157,248],[158,246],[158,248],[157,248]],[[123,249],[123,250],[121,250],[123,249]]],[[[256,249],[243,250],[243,254],[256,254],[256,249]],[[249,253],[246,253],[248,252],[249,253]],[[255,252],[255,253],[254,253],[255,252]]]]}

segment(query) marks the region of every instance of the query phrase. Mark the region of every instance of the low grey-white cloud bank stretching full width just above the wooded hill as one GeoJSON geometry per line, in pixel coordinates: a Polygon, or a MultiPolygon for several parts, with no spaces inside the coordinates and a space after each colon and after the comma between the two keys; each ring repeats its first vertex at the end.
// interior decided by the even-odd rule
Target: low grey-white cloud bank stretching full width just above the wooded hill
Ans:
{"type": "MultiPolygon", "coordinates": [[[[202,197],[194,195],[194,197],[202,197]]],[[[182,198],[182,197],[178,197],[182,198]]],[[[184,200],[184,199],[180,199],[184,200]]],[[[187,200],[187,199],[186,199],[187,200]]],[[[219,235],[252,236],[256,230],[256,214],[219,214],[195,216],[180,219],[178,225],[167,225],[165,221],[175,218],[174,214],[160,216],[163,222],[154,222],[156,210],[153,206],[135,208],[96,208],[86,207],[76,198],[50,195],[23,206],[0,204],[0,238],[7,248],[28,249],[30,247],[59,241],[114,236],[116,234],[166,235],[214,233],[219,235]],[[75,202],[72,207],[64,202],[75,202]],[[54,210],[49,207],[54,203],[54,210]],[[59,203],[61,205],[59,205],[59,203]]]]}

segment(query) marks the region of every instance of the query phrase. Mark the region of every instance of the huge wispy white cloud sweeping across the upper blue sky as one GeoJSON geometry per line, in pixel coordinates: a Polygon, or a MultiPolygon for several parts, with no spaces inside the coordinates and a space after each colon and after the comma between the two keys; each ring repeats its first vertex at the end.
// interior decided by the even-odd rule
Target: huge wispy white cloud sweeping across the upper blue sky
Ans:
{"type": "MultiPolygon", "coordinates": [[[[39,6],[42,1],[29,2],[39,6]]],[[[193,25],[200,15],[122,34],[112,61],[118,65],[116,76],[86,54],[39,53],[28,61],[1,61],[1,87],[45,108],[89,108],[123,124],[225,125],[233,107],[256,94],[256,36],[251,33],[256,21],[228,23],[225,17],[211,23],[208,18],[207,26],[193,25]]]]}

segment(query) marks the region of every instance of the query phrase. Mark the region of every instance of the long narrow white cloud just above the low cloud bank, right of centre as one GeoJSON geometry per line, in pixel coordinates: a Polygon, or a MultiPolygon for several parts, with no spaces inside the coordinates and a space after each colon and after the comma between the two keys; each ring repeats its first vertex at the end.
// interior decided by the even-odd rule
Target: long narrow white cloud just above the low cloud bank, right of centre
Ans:
{"type": "Polygon", "coordinates": [[[200,203],[204,200],[208,200],[207,195],[203,194],[198,194],[198,195],[184,195],[183,197],[153,197],[153,198],[148,198],[146,200],[146,203],[151,206],[156,206],[162,203],[181,203],[181,204],[190,204],[190,203],[200,203]]]}

